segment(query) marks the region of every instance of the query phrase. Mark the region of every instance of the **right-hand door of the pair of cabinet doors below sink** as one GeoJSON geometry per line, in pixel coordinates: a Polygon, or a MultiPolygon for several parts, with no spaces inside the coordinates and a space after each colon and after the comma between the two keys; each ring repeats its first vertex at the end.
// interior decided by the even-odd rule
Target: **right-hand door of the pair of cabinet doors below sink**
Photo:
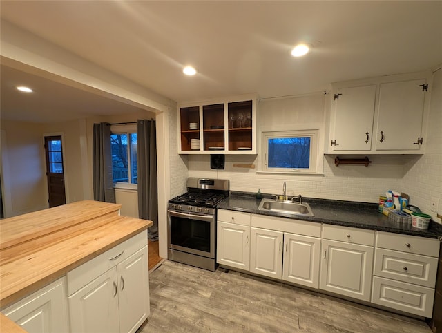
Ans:
{"type": "Polygon", "coordinates": [[[284,234],[282,280],[319,287],[320,238],[284,234]]]}

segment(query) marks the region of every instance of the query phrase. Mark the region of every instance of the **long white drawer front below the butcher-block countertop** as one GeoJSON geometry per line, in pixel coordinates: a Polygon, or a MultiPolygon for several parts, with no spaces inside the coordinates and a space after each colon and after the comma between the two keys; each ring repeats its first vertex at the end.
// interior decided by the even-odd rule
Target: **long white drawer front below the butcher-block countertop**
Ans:
{"type": "Polygon", "coordinates": [[[129,238],[66,274],[68,296],[147,245],[147,232],[129,238]]]}

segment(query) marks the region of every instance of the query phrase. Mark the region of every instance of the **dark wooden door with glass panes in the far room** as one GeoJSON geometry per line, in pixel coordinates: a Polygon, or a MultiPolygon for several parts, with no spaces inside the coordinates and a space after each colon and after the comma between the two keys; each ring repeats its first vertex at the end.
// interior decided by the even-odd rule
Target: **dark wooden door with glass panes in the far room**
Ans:
{"type": "Polygon", "coordinates": [[[44,137],[44,148],[46,152],[49,207],[56,207],[66,204],[61,135],[44,137]]]}

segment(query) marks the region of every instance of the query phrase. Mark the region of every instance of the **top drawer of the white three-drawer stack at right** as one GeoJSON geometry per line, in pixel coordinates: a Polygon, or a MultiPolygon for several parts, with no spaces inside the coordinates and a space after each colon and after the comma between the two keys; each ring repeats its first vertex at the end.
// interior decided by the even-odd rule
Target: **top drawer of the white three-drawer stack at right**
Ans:
{"type": "Polygon", "coordinates": [[[418,236],[392,234],[378,231],[376,247],[394,249],[410,254],[423,254],[424,256],[439,256],[439,240],[418,236]]]}

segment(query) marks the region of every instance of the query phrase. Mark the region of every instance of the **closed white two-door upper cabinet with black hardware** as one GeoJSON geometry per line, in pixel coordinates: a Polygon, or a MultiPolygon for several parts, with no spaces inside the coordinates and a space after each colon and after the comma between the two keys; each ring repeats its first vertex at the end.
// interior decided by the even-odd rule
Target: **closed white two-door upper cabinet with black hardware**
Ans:
{"type": "Polygon", "coordinates": [[[423,153],[430,78],[423,72],[333,84],[325,151],[423,153]]]}

